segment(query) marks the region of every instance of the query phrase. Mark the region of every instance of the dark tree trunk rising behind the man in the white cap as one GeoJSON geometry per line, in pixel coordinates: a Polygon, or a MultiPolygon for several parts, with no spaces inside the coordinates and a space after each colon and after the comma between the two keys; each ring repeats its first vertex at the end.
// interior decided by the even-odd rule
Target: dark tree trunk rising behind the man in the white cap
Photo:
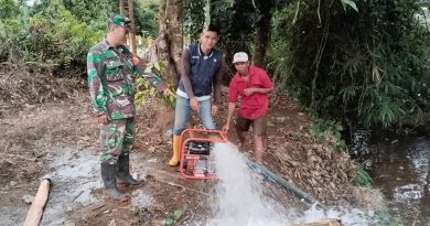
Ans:
{"type": "Polygon", "coordinates": [[[271,1],[264,0],[261,3],[261,19],[257,22],[257,34],[255,40],[255,53],[252,55],[252,64],[262,66],[265,63],[266,50],[270,40],[270,21],[273,14],[275,4],[271,1]]]}

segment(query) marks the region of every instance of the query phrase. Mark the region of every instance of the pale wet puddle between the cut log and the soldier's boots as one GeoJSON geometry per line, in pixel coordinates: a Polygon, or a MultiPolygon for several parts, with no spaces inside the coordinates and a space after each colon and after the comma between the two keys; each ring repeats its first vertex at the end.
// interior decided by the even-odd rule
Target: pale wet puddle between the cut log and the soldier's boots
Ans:
{"type": "Polygon", "coordinates": [[[94,203],[94,189],[101,187],[97,155],[89,150],[63,149],[47,170],[52,179],[42,225],[62,225],[67,212],[94,203]]]}

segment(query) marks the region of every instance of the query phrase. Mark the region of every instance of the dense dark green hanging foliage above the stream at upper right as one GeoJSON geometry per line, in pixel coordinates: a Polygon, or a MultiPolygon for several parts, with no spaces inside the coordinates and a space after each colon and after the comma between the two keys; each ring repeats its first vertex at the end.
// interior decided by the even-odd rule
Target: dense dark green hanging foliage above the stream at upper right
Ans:
{"type": "Polygon", "coordinates": [[[275,14],[268,67],[319,117],[358,127],[420,120],[430,110],[422,13],[417,0],[292,1],[275,14]]]}

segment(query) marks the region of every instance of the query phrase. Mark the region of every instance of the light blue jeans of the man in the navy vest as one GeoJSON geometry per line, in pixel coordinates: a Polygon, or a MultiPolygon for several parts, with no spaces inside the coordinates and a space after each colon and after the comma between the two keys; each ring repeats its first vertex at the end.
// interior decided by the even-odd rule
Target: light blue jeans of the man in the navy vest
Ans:
{"type": "MultiPolygon", "coordinates": [[[[198,101],[198,117],[206,129],[216,129],[214,118],[212,117],[211,99],[198,101]]],[[[186,129],[191,115],[190,99],[176,96],[176,108],[174,110],[173,134],[180,136],[186,129]]]]}

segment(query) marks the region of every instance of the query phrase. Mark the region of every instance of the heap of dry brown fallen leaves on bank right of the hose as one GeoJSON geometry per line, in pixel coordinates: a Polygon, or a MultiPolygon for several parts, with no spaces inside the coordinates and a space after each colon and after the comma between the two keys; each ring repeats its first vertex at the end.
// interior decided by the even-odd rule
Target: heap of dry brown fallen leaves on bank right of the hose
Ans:
{"type": "Polygon", "coordinates": [[[303,134],[301,138],[287,134],[278,139],[282,146],[268,151],[268,154],[279,159],[281,163],[268,165],[286,180],[291,180],[301,189],[314,195],[323,203],[333,203],[343,196],[352,196],[350,180],[355,165],[347,154],[337,152],[320,141],[303,134]]]}

